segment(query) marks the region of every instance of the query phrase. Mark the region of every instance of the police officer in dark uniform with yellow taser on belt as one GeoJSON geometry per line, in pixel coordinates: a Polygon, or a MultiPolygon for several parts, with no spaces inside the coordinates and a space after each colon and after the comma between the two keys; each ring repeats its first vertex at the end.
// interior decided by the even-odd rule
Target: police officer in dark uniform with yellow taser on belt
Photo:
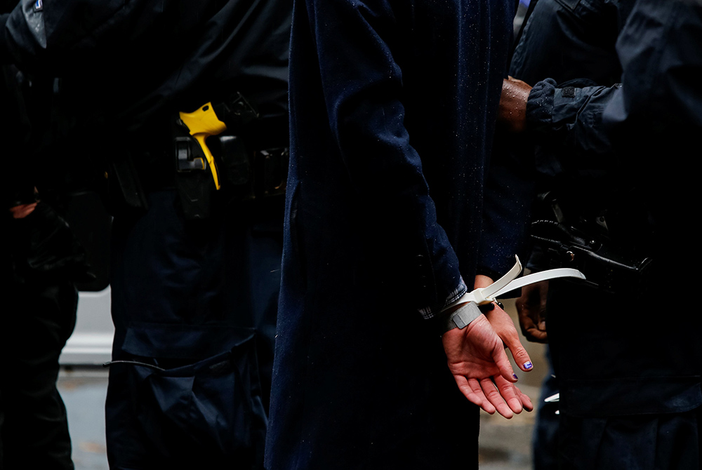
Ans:
{"type": "Polygon", "coordinates": [[[290,11],[39,0],[3,18],[0,57],[60,76],[57,158],[108,168],[113,469],[262,466],[290,11]]]}

